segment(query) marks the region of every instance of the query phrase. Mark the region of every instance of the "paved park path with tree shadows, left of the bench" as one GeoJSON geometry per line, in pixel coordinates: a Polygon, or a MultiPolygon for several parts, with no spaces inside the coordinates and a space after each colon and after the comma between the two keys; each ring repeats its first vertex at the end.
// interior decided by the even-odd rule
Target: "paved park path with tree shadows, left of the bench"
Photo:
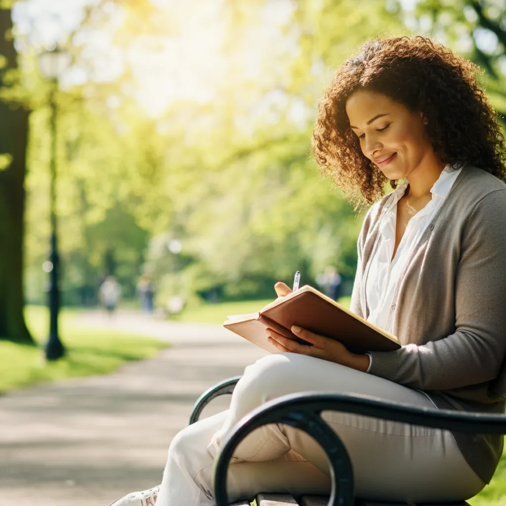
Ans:
{"type": "MultiPolygon", "coordinates": [[[[84,313],[80,323],[172,347],[109,375],[0,397],[0,506],[107,506],[158,484],[168,444],[187,425],[197,397],[265,355],[219,325],[128,311],[114,320],[84,313]]],[[[225,398],[214,402],[208,413],[227,406],[225,398]]]]}

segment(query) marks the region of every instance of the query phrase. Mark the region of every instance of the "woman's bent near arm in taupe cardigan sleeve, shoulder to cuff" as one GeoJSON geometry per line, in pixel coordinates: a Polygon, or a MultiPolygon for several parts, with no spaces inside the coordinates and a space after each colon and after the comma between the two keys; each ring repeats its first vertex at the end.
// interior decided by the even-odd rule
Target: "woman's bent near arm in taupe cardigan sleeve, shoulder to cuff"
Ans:
{"type": "Polygon", "coordinates": [[[456,331],[425,345],[371,352],[369,373],[422,390],[494,379],[506,350],[506,191],[474,209],[463,229],[455,273],[456,331]]]}

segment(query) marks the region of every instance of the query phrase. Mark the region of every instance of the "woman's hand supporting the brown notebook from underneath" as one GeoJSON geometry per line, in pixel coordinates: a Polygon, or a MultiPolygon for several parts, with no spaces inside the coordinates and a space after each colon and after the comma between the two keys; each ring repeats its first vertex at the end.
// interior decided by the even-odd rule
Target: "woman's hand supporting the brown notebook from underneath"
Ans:
{"type": "Polygon", "coordinates": [[[321,358],[363,372],[369,367],[369,357],[367,355],[351,353],[339,341],[315,334],[310,330],[296,325],[291,327],[291,331],[297,335],[298,338],[311,343],[311,345],[303,345],[293,339],[285,338],[272,328],[267,329],[267,333],[270,336],[269,342],[281,352],[300,353],[301,355],[321,358]]]}

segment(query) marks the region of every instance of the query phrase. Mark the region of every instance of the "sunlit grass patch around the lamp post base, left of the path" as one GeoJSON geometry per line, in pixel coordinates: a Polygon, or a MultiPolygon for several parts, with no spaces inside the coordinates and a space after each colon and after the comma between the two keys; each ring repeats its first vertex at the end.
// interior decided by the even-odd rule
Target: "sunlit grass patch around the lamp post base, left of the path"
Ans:
{"type": "MultiPolygon", "coordinates": [[[[46,362],[41,347],[0,341],[0,392],[64,378],[106,374],[125,362],[152,357],[167,346],[141,335],[82,329],[77,315],[72,310],[61,312],[60,337],[66,355],[60,360],[46,362]]],[[[28,306],[25,316],[33,337],[44,345],[48,335],[47,309],[28,306]]]]}

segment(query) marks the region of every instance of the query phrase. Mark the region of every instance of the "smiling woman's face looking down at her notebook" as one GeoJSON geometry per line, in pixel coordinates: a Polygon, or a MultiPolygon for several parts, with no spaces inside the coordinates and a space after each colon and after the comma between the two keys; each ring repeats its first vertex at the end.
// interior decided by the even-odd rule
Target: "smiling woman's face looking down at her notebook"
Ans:
{"type": "Polygon", "coordinates": [[[388,179],[408,177],[434,156],[421,112],[381,93],[359,90],[347,100],[346,113],[362,153],[388,179]]]}

